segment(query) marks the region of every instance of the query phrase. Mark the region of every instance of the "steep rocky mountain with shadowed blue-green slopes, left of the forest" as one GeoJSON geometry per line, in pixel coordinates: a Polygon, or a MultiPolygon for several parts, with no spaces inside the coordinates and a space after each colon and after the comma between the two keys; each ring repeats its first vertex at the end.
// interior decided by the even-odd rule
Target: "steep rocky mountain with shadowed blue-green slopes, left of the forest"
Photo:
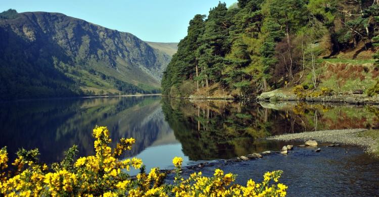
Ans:
{"type": "Polygon", "coordinates": [[[170,60],[130,33],[64,14],[0,14],[0,100],[157,93],[170,60]]]}

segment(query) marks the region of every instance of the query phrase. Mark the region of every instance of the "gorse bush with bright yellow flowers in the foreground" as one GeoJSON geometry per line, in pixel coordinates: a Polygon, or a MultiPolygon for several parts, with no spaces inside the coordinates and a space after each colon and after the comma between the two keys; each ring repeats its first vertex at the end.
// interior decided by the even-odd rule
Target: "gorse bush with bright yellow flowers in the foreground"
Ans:
{"type": "Polygon", "coordinates": [[[173,184],[165,183],[166,174],[158,168],[149,173],[140,159],[120,160],[126,150],[131,149],[133,138],[122,138],[112,150],[107,127],[93,129],[94,156],[81,157],[76,161],[76,146],[67,151],[61,163],[49,170],[39,164],[37,150],[20,150],[12,163],[14,171],[8,169],[6,147],[0,150],[0,196],[285,196],[287,186],[278,182],[281,171],[266,172],[261,183],[249,180],[246,186],[232,184],[236,175],[224,174],[216,169],[212,177],[201,172],[188,178],[181,176],[183,159],[175,157],[176,169],[173,184]],[[130,167],[140,169],[135,177],[129,176],[130,167]]]}

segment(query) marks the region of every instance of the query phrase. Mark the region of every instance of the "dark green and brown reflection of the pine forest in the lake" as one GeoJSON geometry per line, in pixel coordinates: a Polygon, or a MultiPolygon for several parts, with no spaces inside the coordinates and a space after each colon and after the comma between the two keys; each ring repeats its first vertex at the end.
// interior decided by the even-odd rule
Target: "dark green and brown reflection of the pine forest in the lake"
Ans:
{"type": "Polygon", "coordinates": [[[325,129],[378,128],[377,107],[163,100],[163,112],[190,160],[228,159],[279,149],[262,138],[325,129]]]}

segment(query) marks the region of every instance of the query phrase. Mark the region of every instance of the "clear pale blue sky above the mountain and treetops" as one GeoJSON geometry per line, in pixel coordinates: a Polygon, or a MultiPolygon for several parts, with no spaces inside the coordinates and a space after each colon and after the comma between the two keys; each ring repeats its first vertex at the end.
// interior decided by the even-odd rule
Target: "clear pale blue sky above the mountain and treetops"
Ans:
{"type": "MultiPolygon", "coordinates": [[[[224,0],[227,6],[237,0],[224,0]]],[[[1,0],[0,12],[59,12],[107,28],[130,32],[140,39],[178,42],[196,14],[208,15],[219,0],[1,0]]]]}

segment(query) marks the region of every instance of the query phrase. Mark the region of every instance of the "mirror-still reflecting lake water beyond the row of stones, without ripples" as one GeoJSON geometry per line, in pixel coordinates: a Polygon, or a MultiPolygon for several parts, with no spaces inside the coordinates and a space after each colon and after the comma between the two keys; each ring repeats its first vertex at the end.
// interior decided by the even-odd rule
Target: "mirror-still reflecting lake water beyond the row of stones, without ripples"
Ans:
{"type": "Polygon", "coordinates": [[[0,146],[8,146],[11,159],[20,147],[37,147],[46,163],[61,160],[73,144],[80,156],[93,154],[95,125],[108,126],[113,145],[121,137],[134,137],[124,157],[143,157],[151,161],[145,162],[148,166],[161,168],[171,166],[162,159],[166,156],[199,161],[279,149],[281,143],[262,139],[270,135],[379,128],[374,106],[190,102],[160,96],[1,103],[0,111],[0,146]]]}

